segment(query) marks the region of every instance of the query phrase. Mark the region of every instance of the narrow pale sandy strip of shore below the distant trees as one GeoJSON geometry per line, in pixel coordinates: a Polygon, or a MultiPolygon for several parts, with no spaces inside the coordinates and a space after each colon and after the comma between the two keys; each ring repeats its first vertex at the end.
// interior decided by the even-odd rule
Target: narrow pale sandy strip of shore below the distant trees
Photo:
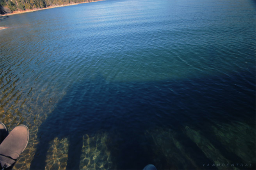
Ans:
{"type": "MultiPolygon", "coordinates": [[[[97,1],[92,1],[92,2],[98,2],[98,1],[103,1],[103,0],[97,0],[97,1]]],[[[24,11],[13,11],[12,13],[9,13],[9,14],[0,14],[0,16],[9,16],[9,15],[15,15],[15,14],[23,14],[23,13],[27,13],[27,12],[41,11],[41,10],[44,10],[44,9],[66,7],[66,6],[85,4],[85,3],[91,3],[91,2],[81,2],[81,3],[72,3],[72,4],[64,4],[64,5],[52,5],[52,6],[46,7],[46,8],[28,9],[28,10],[24,10],[24,11]]]]}

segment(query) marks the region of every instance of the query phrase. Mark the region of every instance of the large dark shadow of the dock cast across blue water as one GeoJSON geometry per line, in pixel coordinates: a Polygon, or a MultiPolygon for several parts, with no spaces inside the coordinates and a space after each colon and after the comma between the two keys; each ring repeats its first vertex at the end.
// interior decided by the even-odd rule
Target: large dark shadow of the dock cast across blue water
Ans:
{"type": "MultiPolygon", "coordinates": [[[[160,156],[153,154],[148,138],[142,137],[146,130],[156,126],[171,128],[180,134],[181,144],[193,148],[193,151],[187,150],[188,154],[197,153],[198,159],[195,161],[198,165],[202,162],[212,163],[182,131],[184,124],[202,128],[202,123],[207,124],[209,118],[226,123],[233,121],[230,117],[219,120],[220,115],[213,107],[227,114],[235,112],[237,115],[234,119],[241,118],[238,115],[240,110],[233,107],[226,109],[236,102],[225,96],[225,93],[234,93],[233,89],[227,86],[216,90],[211,84],[214,81],[218,82],[220,78],[108,82],[103,76],[97,75],[93,79],[77,82],[39,127],[39,144],[30,169],[45,168],[49,143],[55,137],[69,138],[66,169],[79,169],[83,135],[93,136],[102,131],[107,131],[112,139],[108,148],[116,165],[113,168],[142,169],[160,156]],[[204,86],[209,87],[205,89],[204,86]]],[[[249,104],[253,105],[252,102],[249,104]]],[[[249,113],[252,111],[248,110],[249,113]]],[[[210,130],[206,126],[204,128],[210,130]]],[[[228,151],[224,149],[223,152],[228,151]]],[[[162,158],[158,168],[168,168],[167,165],[170,164],[162,158]]],[[[194,166],[191,165],[191,168],[194,166]]]]}

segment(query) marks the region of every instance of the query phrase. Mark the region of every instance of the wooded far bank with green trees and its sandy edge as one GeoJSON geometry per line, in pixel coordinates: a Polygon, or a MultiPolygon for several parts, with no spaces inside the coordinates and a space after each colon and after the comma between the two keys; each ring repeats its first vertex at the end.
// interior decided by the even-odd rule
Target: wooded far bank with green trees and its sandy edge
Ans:
{"type": "Polygon", "coordinates": [[[20,14],[95,1],[100,0],[0,0],[0,15],[20,14]]]}

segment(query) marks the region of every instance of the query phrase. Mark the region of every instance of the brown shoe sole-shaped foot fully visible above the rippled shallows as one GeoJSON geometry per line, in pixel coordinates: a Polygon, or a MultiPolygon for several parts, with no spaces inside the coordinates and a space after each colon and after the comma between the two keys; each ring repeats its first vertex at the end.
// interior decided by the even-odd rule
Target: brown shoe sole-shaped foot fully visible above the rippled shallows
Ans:
{"type": "Polygon", "coordinates": [[[10,168],[16,162],[21,152],[27,147],[29,130],[21,124],[15,127],[0,144],[0,164],[2,168],[10,168]]]}

